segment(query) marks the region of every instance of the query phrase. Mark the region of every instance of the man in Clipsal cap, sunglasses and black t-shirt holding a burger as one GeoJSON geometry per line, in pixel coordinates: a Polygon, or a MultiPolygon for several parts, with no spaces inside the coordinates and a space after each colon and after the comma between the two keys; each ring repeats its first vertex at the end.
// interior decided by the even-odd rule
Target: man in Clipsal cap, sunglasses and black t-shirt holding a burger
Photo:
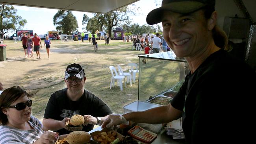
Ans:
{"type": "Polygon", "coordinates": [[[104,116],[112,114],[102,100],[83,87],[85,85],[85,73],[81,65],[73,63],[67,66],[65,71],[65,83],[67,88],[54,92],[45,109],[43,125],[60,135],[69,134],[65,124],[74,114],[80,114],[85,118],[83,131],[91,131],[93,125],[101,125],[104,116]]]}

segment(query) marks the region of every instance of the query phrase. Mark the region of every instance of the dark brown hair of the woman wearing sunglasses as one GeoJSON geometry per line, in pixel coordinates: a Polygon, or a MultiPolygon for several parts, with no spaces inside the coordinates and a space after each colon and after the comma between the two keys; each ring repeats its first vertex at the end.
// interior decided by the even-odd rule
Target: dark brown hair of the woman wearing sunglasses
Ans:
{"type": "MultiPolygon", "coordinates": [[[[38,90],[39,91],[39,90],[38,90]]],[[[2,92],[0,95],[0,125],[6,125],[8,122],[6,114],[2,112],[4,108],[7,108],[11,103],[18,100],[20,97],[28,96],[31,97],[35,95],[38,91],[33,92],[32,94],[27,93],[25,90],[21,89],[19,86],[10,87],[2,92]]]]}

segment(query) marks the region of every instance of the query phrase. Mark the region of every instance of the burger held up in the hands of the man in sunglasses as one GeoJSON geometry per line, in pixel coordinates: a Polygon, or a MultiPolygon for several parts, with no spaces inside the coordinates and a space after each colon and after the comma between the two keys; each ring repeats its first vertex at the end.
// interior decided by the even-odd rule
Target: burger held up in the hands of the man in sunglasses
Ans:
{"type": "Polygon", "coordinates": [[[80,114],[75,114],[70,118],[70,121],[66,122],[68,131],[82,131],[84,118],[80,114]]]}

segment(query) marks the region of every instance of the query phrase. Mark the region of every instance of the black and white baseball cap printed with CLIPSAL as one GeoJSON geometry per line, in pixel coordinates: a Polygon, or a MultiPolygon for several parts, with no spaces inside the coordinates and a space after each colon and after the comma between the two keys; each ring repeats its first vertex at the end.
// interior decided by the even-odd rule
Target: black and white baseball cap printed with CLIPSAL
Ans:
{"type": "Polygon", "coordinates": [[[65,79],[69,78],[70,76],[75,76],[80,79],[85,77],[85,73],[82,66],[76,63],[68,65],[65,71],[65,79]]]}

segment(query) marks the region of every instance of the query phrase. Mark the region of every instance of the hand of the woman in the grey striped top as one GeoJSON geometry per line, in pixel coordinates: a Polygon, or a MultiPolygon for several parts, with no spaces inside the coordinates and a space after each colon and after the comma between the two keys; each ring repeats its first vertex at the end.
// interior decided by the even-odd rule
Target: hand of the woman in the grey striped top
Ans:
{"type": "Polygon", "coordinates": [[[54,144],[54,141],[59,137],[59,133],[45,131],[41,137],[33,144],[54,144]]]}

